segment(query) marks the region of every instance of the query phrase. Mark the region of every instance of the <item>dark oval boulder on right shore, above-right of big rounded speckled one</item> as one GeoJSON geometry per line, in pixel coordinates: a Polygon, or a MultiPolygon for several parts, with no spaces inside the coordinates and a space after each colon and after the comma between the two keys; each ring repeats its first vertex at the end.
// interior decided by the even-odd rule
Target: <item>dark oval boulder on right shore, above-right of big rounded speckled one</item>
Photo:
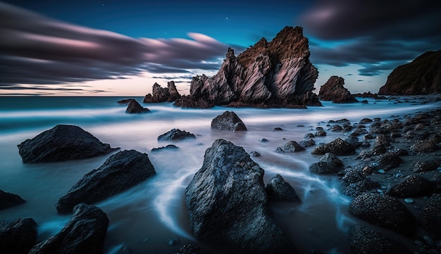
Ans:
{"type": "Polygon", "coordinates": [[[390,187],[388,194],[397,198],[414,198],[430,196],[432,191],[433,187],[428,179],[411,174],[403,182],[390,187]]]}

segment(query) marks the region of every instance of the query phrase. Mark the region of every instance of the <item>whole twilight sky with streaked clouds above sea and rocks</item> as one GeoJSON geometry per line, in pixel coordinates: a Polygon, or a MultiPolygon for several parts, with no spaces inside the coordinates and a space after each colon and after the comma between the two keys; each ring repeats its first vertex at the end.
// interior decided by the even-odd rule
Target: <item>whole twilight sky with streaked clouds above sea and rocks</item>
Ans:
{"type": "Polygon", "coordinates": [[[0,96],[144,96],[216,74],[235,53],[303,27],[318,92],[330,76],[352,93],[441,49],[441,1],[0,1],[0,96]]]}

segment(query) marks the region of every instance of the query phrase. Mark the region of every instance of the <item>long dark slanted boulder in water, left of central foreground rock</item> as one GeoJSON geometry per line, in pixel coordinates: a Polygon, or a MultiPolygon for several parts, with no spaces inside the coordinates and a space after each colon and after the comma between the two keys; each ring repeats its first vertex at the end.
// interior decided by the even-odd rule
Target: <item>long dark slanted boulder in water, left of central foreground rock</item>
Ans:
{"type": "Polygon", "coordinates": [[[60,214],[72,212],[79,203],[97,203],[123,192],[156,174],[146,153],[135,150],[120,151],[111,155],[96,170],[85,174],[68,193],[56,203],[60,214]]]}

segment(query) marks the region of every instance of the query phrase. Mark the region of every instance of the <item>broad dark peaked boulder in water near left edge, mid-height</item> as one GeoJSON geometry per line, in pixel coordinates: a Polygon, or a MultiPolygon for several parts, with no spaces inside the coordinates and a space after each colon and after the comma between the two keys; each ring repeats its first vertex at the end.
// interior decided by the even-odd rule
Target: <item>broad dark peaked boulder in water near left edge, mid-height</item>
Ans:
{"type": "Polygon", "coordinates": [[[104,155],[113,151],[84,129],[75,125],[56,125],[18,145],[23,163],[49,163],[104,155]]]}

